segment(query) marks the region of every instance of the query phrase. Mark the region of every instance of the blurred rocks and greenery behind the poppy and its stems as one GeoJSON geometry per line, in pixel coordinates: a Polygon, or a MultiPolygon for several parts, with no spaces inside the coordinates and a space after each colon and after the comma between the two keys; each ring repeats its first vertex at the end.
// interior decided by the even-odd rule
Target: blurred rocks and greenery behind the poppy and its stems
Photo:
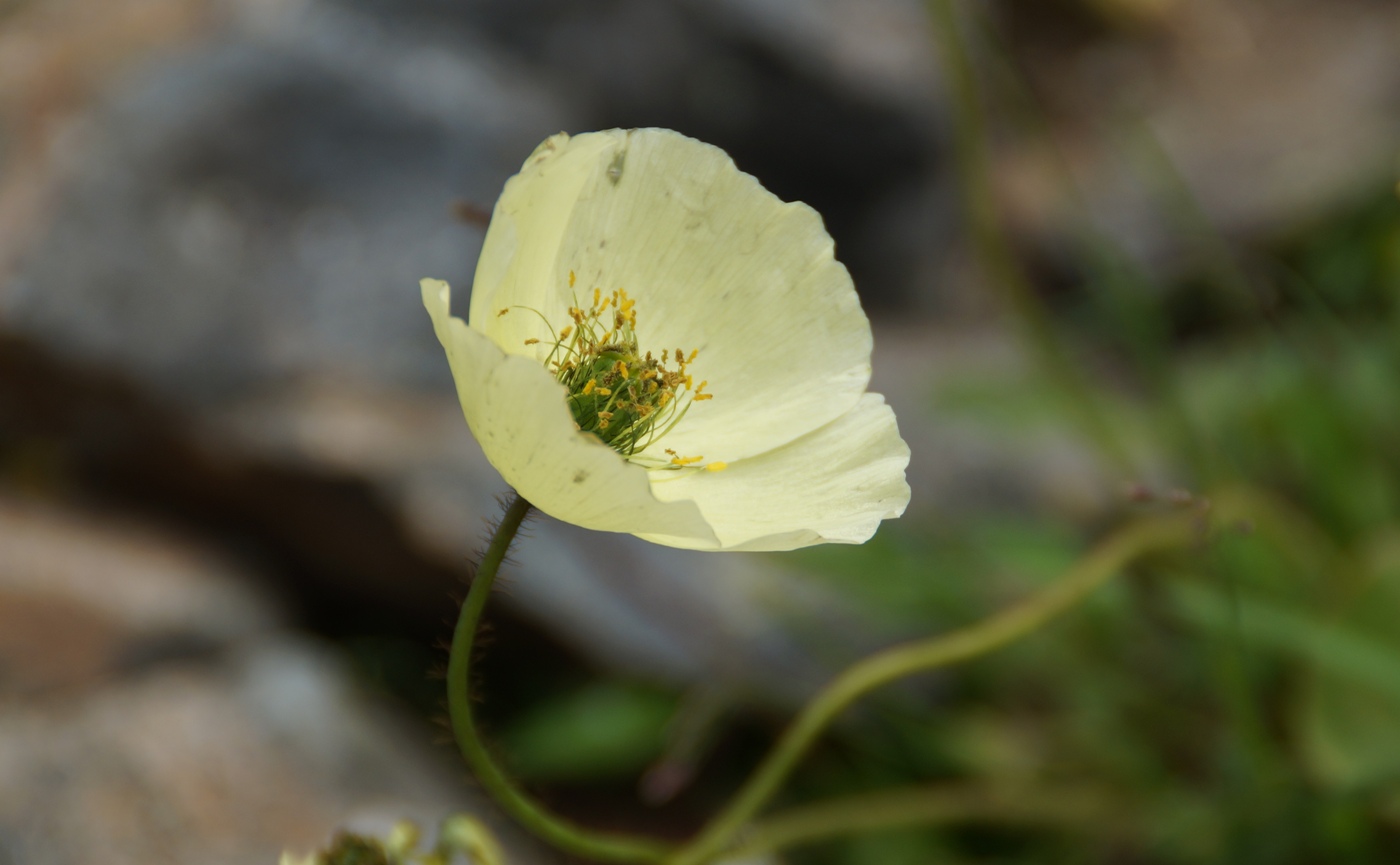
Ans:
{"type": "Polygon", "coordinates": [[[496,819],[441,641],[503,487],[417,280],[610,126],[823,214],[914,497],[781,556],[535,522],[476,683],[532,789],[685,837],[846,663],[1228,504],[781,802],[945,820],[774,861],[1400,861],[1397,52],[1389,0],[0,0],[0,865],[496,819]]]}

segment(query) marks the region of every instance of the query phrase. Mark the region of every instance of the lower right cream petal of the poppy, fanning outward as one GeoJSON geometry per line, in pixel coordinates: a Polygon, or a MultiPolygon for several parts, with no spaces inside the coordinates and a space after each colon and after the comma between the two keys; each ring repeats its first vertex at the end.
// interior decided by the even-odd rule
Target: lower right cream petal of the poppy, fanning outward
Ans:
{"type": "Polygon", "coordinates": [[[657,543],[690,549],[792,550],[815,543],[864,543],[882,519],[909,504],[909,445],[878,393],[802,438],[729,463],[722,472],[652,470],[664,501],[692,500],[718,546],[658,532],[657,543]]]}

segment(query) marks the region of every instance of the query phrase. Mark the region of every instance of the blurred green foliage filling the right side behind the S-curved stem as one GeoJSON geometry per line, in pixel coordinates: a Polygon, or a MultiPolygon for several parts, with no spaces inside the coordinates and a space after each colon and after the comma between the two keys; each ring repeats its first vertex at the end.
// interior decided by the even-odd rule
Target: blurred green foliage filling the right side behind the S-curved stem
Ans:
{"type": "MultiPolygon", "coordinates": [[[[1175,507],[1247,523],[948,673],[931,708],[883,701],[792,792],[921,781],[1053,799],[1086,784],[1114,805],[1053,827],[991,813],[791,861],[1400,861],[1400,200],[1378,185],[1291,237],[1212,245],[1233,260],[1204,258],[1169,284],[1086,256],[1079,302],[1056,321],[1077,357],[1112,370],[1095,400],[1144,476],[1191,491],[1175,507]],[[1249,274],[1243,312],[1215,297],[1239,288],[1226,272],[1249,274]]],[[[935,403],[991,434],[1074,423],[1035,378],[952,382],[935,403]]],[[[1054,578],[1134,507],[1173,502],[1124,502],[1096,525],[941,514],[801,561],[882,620],[956,627],[1054,578]]]]}

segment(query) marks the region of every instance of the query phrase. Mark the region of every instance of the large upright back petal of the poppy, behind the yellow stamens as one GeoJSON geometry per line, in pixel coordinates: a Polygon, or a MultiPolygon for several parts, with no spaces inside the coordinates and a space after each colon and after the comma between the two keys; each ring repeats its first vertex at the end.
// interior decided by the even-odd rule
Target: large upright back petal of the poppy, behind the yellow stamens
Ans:
{"type": "MultiPolygon", "coordinates": [[[[714,399],[655,449],[738,462],[855,406],[871,332],[832,238],[720,148],[658,129],[554,136],[497,202],[476,270],[472,323],[505,351],[567,323],[573,293],[626,288],[641,347],[699,350],[714,399]],[[518,311],[519,312],[519,311],[518,311]]],[[[651,453],[648,453],[651,455],[651,453]]]]}

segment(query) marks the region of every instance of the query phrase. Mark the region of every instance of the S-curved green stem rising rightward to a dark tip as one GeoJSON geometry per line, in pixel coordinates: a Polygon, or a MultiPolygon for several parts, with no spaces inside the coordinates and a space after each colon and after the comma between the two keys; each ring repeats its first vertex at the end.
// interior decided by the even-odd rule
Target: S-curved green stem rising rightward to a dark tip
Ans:
{"type": "Polygon", "coordinates": [[[1196,532],[1196,515],[1176,514],[1133,523],[1091,550],[1064,579],[1019,606],[952,634],[896,645],[847,668],[806,704],[729,805],[668,864],[701,865],[724,852],[773,799],[822,731],[869,691],[916,673],[986,655],[1021,640],[1074,607],[1128,563],[1148,553],[1189,543],[1196,532]]]}

